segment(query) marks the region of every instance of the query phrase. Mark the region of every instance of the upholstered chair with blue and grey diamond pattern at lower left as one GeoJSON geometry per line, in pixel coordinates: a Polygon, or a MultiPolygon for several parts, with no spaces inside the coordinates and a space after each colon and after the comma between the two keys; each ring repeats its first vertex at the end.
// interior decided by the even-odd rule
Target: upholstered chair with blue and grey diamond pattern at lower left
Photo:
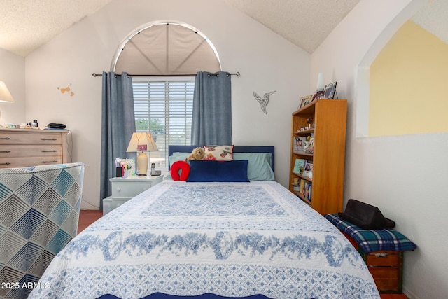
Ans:
{"type": "Polygon", "coordinates": [[[27,298],[52,258],[76,236],[84,167],[0,169],[0,298],[27,298]]]}

